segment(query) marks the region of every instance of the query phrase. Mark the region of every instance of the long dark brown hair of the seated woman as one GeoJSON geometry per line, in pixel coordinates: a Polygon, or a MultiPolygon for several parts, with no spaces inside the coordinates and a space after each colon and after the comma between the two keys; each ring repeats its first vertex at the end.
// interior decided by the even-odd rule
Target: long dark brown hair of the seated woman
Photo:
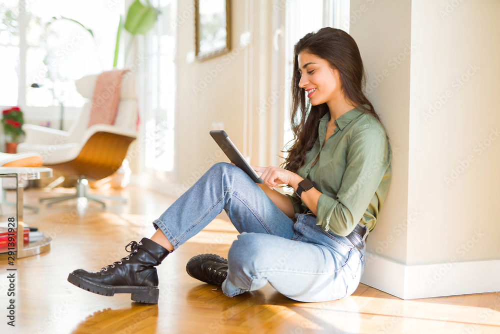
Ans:
{"type": "Polygon", "coordinates": [[[371,102],[363,94],[366,75],[356,42],[349,34],[340,29],[322,28],[316,33],[309,33],[295,44],[293,77],[291,81],[291,130],[293,144],[285,152],[284,169],[294,173],[305,163],[305,154],[309,151],[318,136],[319,120],[328,112],[326,103],[311,106],[305,102],[305,91],[298,87],[298,54],[306,52],[326,60],[332,69],[340,75],[341,90],[347,101],[358,105],[361,111],[373,115],[380,124],[371,102]],[[367,105],[366,108],[364,105],[367,105]]]}

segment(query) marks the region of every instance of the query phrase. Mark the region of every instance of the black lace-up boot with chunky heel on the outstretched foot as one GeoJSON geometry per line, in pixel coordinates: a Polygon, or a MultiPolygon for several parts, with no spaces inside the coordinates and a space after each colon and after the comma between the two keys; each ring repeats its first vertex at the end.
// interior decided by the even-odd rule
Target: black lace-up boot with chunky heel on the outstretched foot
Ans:
{"type": "Polygon", "coordinates": [[[160,264],[170,252],[147,238],[142,238],[139,243],[130,242],[125,250],[130,254],[97,272],[74,270],[67,277],[68,282],[105,296],[131,293],[133,301],[157,303],[158,274],[154,266],[160,264]]]}

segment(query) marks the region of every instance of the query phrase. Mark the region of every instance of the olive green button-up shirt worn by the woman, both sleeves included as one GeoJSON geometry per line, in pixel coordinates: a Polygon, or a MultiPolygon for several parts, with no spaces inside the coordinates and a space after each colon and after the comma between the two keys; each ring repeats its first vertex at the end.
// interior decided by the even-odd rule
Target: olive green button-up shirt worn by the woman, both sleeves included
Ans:
{"type": "MultiPolygon", "coordinates": [[[[322,193],[316,220],[325,231],[345,236],[357,222],[372,230],[390,183],[392,152],[385,131],[375,117],[352,109],[335,120],[335,131],[323,146],[329,120],[326,113],[319,121],[318,138],[297,174],[308,176],[322,193]]],[[[295,193],[288,196],[295,213],[307,210],[295,193]]]]}

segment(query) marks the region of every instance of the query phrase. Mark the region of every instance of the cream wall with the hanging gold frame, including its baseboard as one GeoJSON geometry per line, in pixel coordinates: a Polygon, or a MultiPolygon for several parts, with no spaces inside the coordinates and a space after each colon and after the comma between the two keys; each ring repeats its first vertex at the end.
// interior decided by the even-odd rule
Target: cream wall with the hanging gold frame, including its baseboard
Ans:
{"type": "Polygon", "coordinates": [[[186,61],[194,53],[192,1],[179,0],[177,5],[179,17],[185,19],[177,28],[177,177],[168,186],[150,184],[172,196],[187,190],[213,163],[228,161],[208,134],[212,123],[222,123],[251,163],[261,163],[259,135],[265,134],[270,125],[259,122],[259,117],[265,121],[270,115],[259,115],[257,107],[268,98],[270,84],[271,2],[245,0],[230,4],[229,53],[194,62],[186,61]],[[241,46],[240,37],[247,32],[249,44],[241,46]]]}

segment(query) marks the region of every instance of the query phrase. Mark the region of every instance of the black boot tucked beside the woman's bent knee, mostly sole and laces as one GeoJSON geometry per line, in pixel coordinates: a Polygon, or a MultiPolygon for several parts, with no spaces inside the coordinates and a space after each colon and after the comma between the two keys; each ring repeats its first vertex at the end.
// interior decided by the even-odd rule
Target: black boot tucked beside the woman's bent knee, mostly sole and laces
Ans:
{"type": "Polygon", "coordinates": [[[227,259],[214,254],[200,254],[187,261],[189,276],[202,282],[222,286],[227,277],[227,259]]]}

